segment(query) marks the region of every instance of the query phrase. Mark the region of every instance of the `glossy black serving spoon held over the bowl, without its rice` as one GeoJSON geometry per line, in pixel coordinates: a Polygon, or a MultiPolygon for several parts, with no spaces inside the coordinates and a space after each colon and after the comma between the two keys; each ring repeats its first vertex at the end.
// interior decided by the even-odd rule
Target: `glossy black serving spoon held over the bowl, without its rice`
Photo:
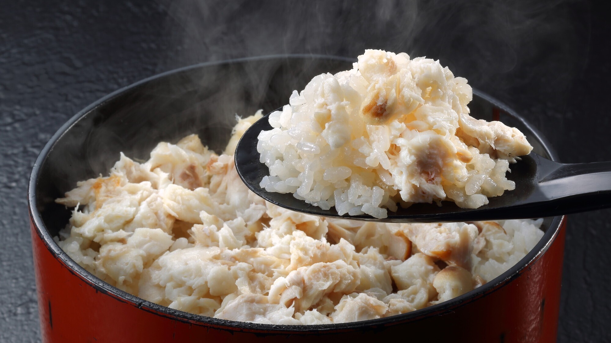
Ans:
{"type": "Polygon", "coordinates": [[[463,209],[452,201],[442,201],[442,206],[419,203],[397,212],[388,211],[388,217],[383,219],[367,214],[339,215],[335,208],[324,210],[294,198],[292,193],[267,192],[259,186],[263,176],[269,175],[257,152],[259,132],[272,129],[268,116],[247,129],[238,142],[236,169],[246,186],[258,196],[293,211],[372,222],[441,223],[552,217],[611,207],[611,162],[561,164],[530,153],[512,164],[511,173],[507,173],[507,178],[516,182],[516,189],[488,198],[489,203],[477,209],[463,209]]]}

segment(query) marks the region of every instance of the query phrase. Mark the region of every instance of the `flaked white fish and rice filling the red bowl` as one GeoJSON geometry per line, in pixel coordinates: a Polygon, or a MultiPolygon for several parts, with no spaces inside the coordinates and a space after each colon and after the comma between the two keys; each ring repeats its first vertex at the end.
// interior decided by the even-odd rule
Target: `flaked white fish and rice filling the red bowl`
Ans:
{"type": "Polygon", "coordinates": [[[140,164],[78,182],[57,238],[101,280],[203,316],[271,324],[340,323],[434,305],[490,281],[530,251],[541,220],[386,224],[331,220],[266,203],[225,154],[196,135],[159,143],[140,164]]]}

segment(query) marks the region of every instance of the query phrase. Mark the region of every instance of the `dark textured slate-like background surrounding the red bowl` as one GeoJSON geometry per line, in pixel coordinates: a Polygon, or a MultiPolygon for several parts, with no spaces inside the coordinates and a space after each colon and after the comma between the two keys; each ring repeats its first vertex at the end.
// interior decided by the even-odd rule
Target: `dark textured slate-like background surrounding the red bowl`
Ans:
{"type": "MultiPolygon", "coordinates": [[[[95,99],[207,60],[385,48],[441,59],[535,123],[562,162],[611,161],[606,13],[585,1],[5,1],[0,341],[40,339],[27,178],[51,135],[95,99]]],[[[611,338],[610,218],[569,218],[560,342],[611,338]]]]}

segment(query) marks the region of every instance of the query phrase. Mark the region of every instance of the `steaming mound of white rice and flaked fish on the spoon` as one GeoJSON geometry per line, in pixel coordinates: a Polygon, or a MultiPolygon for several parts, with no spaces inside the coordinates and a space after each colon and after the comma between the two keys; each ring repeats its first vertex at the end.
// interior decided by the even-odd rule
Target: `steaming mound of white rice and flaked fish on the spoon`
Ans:
{"type": "Polygon", "coordinates": [[[366,50],[269,115],[260,186],[340,215],[386,218],[397,203],[442,200],[478,208],[514,189],[505,173],[532,146],[516,128],[470,117],[471,99],[467,80],[438,60],[366,50]]]}

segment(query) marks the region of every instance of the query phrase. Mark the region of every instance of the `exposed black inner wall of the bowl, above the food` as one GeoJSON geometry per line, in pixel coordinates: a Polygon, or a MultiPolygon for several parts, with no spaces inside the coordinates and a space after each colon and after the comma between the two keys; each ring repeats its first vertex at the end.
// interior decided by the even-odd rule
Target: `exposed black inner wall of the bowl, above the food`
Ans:
{"type": "MultiPolygon", "coordinates": [[[[63,197],[78,181],[108,175],[120,152],[147,160],[158,142],[175,143],[188,134],[198,134],[205,145],[222,151],[236,115],[245,117],[258,109],[277,109],[287,103],[293,90],[301,90],[313,76],[347,70],[352,62],[321,56],[284,56],[205,63],[117,91],[72,118],[43,150],[46,156],[39,158],[38,171],[35,169],[35,179],[31,181],[31,201],[48,234],[56,236],[68,223],[70,210],[54,200],[63,197]]],[[[474,92],[469,107],[475,118],[500,118],[516,126],[536,153],[555,158],[536,129],[498,101],[474,92]]],[[[559,223],[559,217],[546,218],[542,229],[554,231],[556,221],[559,223]]],[[[550,233],[543,240],[550,239],[550,233]]]]}

